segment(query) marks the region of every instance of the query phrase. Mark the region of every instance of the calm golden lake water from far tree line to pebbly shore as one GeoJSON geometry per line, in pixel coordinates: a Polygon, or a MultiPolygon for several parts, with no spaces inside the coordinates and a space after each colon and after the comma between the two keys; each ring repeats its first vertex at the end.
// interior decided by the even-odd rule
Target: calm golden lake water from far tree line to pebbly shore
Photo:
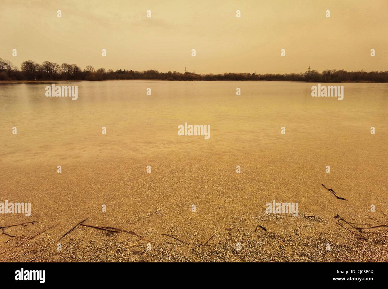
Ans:
{"type": "Polygon", "coordinates": [[[107,204],[100,223],[137,220],[141,232],[179,216],[211,228],[255,218],[272,199],[330,220],[366,218],[370,204],[386,212],[387,84],[333,84],[344,86],[343,100],[312,97],[316,84],[295,82],[56,84],[78,85],[78,99],[46,97],[51,82],[0,84],[0,197],[33,202],[34,219],[100,218],[107,204]],[[210,125],[210,138],[178,136],[185,122],[210,125]]]}

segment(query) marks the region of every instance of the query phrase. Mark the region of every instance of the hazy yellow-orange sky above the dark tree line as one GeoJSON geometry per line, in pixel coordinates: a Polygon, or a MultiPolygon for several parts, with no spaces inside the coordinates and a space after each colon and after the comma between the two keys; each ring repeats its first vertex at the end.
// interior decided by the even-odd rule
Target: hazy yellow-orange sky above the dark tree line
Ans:
{"type": "Polygon", "coordinates": [[[32,59],[162,72],[388,70],[387,0],[0,2],[0,57],[18,68],[32,59]]]}

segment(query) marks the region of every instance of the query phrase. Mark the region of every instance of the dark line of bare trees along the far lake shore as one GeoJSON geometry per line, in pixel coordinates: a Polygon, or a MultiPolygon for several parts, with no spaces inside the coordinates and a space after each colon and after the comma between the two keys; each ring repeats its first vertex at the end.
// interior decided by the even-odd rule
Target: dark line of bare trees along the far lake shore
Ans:
{"type": "Polygon", "coordinates": [[[42,64],[28,60],[17,69],[9,60],[0,58],[0,80],[125,80],[125,79],[158,79],[158,80],[269,80],[269,81],[310,81],[310,82],[388,82],[388,71],[346,71],[346,70],[307,70],[303,73],[255,74],[255,73],[222,73],[198,74],[157,70],[108,70],[94,69],[88,65],[82,70],[76,64],[61,65],[45,61],[42,64]]]}

